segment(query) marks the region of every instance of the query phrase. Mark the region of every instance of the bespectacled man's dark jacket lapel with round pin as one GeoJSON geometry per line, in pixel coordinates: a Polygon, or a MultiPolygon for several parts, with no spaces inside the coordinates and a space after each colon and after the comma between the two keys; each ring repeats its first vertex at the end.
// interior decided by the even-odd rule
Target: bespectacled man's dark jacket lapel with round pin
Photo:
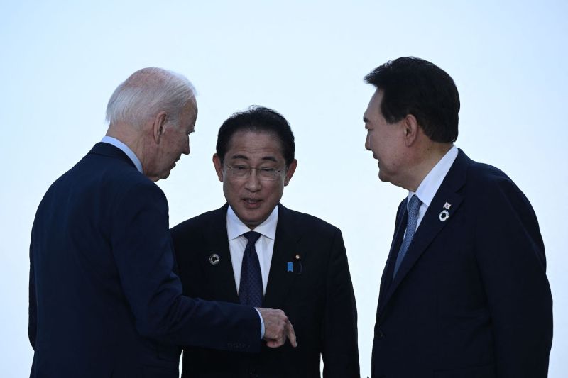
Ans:
{"type": "Polygon", "coordinates": [[[221,209],[214,211],[206,223],[203,230],[205,248],[200,252],[200,264],[203,271],[207,272],[210,283],[207,290],[212,294],[212,298],[239,303],[226,232],[228,208],[229,205],[225,204],[221,209]],[[219,255],[219,262],[216,265],[212,265],[209,261],[213,254],[219,255]]]}

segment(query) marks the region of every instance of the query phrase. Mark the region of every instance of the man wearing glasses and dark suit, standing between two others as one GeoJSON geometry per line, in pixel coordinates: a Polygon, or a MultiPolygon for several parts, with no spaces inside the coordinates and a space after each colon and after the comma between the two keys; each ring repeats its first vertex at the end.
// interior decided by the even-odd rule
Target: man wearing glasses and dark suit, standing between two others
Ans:
{"type": "Polygon", "coordinates": [[[279,202],[292,178],[288,121],[254,106],[219,129],[227,204],[172,229],[186,295],[282,308],[297,348],[260,355],[185,348],[182,377],[359,377],[356,306],[341,231],[279,202]]]}

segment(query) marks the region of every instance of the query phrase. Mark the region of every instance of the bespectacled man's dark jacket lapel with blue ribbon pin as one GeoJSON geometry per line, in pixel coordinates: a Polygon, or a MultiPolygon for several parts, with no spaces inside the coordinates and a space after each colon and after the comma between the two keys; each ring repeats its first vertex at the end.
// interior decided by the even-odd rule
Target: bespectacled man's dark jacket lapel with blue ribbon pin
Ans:
{"type": "Polygon", "coordinates": [[[263,307],[282,308],[288,289],[297,275],[303,273],[295,258],[298,255],[301,262],[305,255],[305,251],[297,249],[302,232],[296,223],[293,213],[278,204],[278,224],[263,307]],[[288,262],[293,262],[293,272],[288,272],[288,262]]]}

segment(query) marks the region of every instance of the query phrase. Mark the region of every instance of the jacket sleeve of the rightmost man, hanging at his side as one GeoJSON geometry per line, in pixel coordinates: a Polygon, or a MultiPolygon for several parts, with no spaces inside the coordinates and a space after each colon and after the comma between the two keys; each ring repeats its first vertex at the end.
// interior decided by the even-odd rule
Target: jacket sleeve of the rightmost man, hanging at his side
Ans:
{"type": "Polygon", "coordinates": [[[552,296],[528,199],[508,179],[489,184],[476,248],[496,344],[497,377],[547,377],[552,296]]]}

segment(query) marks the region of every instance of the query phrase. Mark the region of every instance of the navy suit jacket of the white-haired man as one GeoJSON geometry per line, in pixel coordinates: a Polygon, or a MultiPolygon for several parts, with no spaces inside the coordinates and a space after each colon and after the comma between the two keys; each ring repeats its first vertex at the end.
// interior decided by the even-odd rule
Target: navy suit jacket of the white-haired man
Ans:
{"type": "Polygon", "coordinates": [[[190,299],[168,202],[124,152],[94,148],[48,189],[30,246],[31,377],[178,377],[175,344],[254,351],[252,307],[190,299]]]}

